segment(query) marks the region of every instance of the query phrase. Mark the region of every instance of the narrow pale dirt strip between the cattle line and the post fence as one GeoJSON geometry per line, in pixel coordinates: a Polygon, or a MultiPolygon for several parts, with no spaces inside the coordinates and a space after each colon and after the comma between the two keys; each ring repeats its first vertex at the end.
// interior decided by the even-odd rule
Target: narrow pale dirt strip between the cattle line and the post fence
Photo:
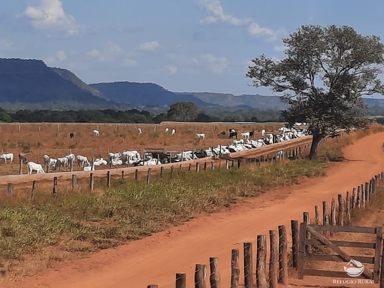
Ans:
{"type": "MultiPolygon", "coordinates": [[[[281,150],[283,151],[295,151],[293,152],[295,155],[298,154],[299,150],[304,149],[304,147],[308,147],[312,142],[312,136],[305,136],[301,138],[292,139],[286,142],[274,143],[267,146],[263,146],[260,148],[254,148],[246,151],[235,152],[230,154],[223,155],[224,158],[258,158],[258,157],[266,157],[266,159],[270,159],[270,157],[275,156],[275,154],[281,150]],[[303,148],[301,148],[303,147],[303,148]],[[268,157],[269,156],[269,157],[268,157]]],[[[289,154],[288,154],[289,155],[289,154]]],[[[170,169],[171,166],[182,166],[188,167],[189,164],[195,165],[197,162],[210,162],[212,159],[215,162],[225,161],[225,159],[220,159],[217,157],[204,157],[196,160],[190,161],[180,161],[175,163],[167,163],[167,164],[159,164],[153,165],[153,170],[160,169],[160,167],[164,167],[163,169],[170,169]]],[[[126,174],[134,173],[137,170],[139,171],[147,171],[149,166],[136,166],[136,167],[124,167],[124,168],[113,168],[111,169],[112,175],[120,175],[124,170],[126,174]]],[[[100,175],[107,174],[109,169],[98,169],[94,171],[73,171],[73,172],[50,172],[46,174],[22,174],[22,175],[3,175],[0,176],[0,181],[3,182],[29,182],[32,180],[43,180],[43,179],[52,179],[52,177],[58,177],[59,179],[71,179],[72,174],[76,174],[78,178],[80,177],[89,177],[90,173],[93,173],[95,177],[99,177],[100,175]]]]}

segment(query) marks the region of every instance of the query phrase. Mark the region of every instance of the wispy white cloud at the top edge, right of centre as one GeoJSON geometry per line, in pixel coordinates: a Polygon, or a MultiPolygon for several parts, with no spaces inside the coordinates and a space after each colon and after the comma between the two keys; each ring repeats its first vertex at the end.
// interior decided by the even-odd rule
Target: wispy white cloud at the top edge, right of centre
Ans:
{"type": "Polygon", "coordinates": [[[200,24],[216,23],[221,21],[227,22],[234,26],[240,26],[252,22],[252,20],[248,18],[236,18],[232,15],[225,14],[219,0],[196,0],[196,2],[200,7],[205,8],[207,12],[213,14],[213,16],[208,16],[200,20],[200,24]]]}

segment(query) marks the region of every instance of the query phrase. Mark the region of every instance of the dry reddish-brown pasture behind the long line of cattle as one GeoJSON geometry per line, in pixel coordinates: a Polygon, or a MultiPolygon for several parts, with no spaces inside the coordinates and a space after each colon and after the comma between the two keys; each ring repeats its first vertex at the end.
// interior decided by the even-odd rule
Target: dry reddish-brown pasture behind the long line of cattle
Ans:
{"type": "MultiPolygon", "coordinates": [[[[206,149],[217,145],[227,145],[229,129],[240,132],[255,131],[255,139],[261,138],[261,131],[275,132],[283,123],[198,123],[198,122],[162,122],[161,124],[97,124],[97,123],[0,123],[0,150],[15,155],[13,165],[0,163],[0,175],[18,174],[18,154],[26,153],[28,161],[43,163],[44,154],[51,158],[64,157],[71,152],[77,155],[108,159],[109,152],[137,150],[142,155],[144,148],[169,149],[206,149]],[[166,133],[165,129],[169,128],[166,133]],[[20,131],[19,131],[20,128],[20,131]],[[139,135],[137,128],[142,129],[139,135]],[[98,129],[100,137],[94,137],[93,130],[98,129]],[[176,130],[171,135],[172,129],[176,130]],[[220,135],[225,131],[226,135],[220,135]],[[70,133],[74,138],[70,138],[70,133]],[[205,140],[198,139],[196,133],[205,133],[205,140]]],[[[122,166],[125,167],[125,166],[122,166]]],[[[74,170],[79,170],[77,166],[74,170]]],[[[105,167],[96,167],[105,169],[105,167]]],[[[82,169],[81,169],[82,170],[82,169]]]]}

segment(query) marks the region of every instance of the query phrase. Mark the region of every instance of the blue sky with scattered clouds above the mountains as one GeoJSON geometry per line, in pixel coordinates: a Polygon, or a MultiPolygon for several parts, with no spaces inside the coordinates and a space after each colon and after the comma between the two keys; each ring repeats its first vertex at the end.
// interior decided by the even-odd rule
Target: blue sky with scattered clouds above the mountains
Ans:
{"type": "Polygon", "coordinates": [[[2,0],[0,57],[42,59],[86,83],[271,95],[248,86],[250,60],[284,58],[281,38],[303,24],[381,36],[383,8],[357,0],[2,0]]]}

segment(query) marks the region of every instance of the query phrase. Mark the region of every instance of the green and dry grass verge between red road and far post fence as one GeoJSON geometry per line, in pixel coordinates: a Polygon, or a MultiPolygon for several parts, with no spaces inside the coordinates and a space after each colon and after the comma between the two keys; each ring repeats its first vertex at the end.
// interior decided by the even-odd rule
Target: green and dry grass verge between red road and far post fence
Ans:
{"type": "Polygon", "coordinates": [[[104,178],[95,181],[92,193],[88,179],[79,179],[76,191],[68,188],[70,182],[63,181],[58,183],[56,199],[51,194],[51,180],[39,181],[34,202],[30,200],[30,187],[14,190],[12,198],[2,193],[2,280],[33,275],[57,262],[144,238],[274,187],[325,175],[329,157],[342,157],[338,155],[341,147],[371,132],[357,131],[329,139],[319,148],[319,161],[298,159],[240,169],[216,168],[198,176],[197,172],[176,169],[172,179],[165,171],[163,178],[154,175],[149,185],[132,178],[115,179],[109,189],[104,178]]]}

